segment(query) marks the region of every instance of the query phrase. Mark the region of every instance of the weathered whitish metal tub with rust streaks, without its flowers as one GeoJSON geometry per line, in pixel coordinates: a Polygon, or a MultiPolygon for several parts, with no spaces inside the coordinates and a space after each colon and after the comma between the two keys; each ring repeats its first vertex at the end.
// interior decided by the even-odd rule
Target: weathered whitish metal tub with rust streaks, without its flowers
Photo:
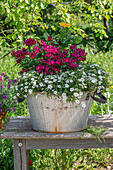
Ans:
{"type": "Polygon", "coordinates": [[[87,127],[89,110],[92,99],[86,100],[84,94],[81,99],[85,102],[83,108],[76,103],[64,103],[57,97],[47,97],[37,93],[27,97],[27,104],[31,116],[33,129],[42,132],[66,133],[81,131],[87,127]]]}

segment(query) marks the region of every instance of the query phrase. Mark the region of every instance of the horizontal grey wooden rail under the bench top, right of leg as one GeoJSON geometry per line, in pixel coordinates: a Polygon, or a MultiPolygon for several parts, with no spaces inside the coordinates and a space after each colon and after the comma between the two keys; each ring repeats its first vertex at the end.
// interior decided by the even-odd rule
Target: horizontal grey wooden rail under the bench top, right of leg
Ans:
{"type": "Polygon", "coordinates": [[[37,139],[27,140],[27,149],[113,148],[113,139],[37,139]]]}

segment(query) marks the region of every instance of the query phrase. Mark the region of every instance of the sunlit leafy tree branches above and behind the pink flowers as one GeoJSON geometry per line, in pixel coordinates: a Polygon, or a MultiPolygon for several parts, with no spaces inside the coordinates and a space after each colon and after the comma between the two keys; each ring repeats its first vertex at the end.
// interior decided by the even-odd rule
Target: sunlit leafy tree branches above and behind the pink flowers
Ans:
{"type": "MultiPolygon", "coordinates": [[[[59,31],[59,23],[72,25],[73,35],[81,35],[97,51],[113,49],[113,3],[110,0],[2,0],[0,2],[0,44],[14,48],[24,39],[51,35],[59,31]],[[90,30],[90,32],[88,31],[90,30]],[[104,48],[102,48],[104,47],[104,48]]],[[[7,49],[6,49],[7,51],[7,49]]]]}

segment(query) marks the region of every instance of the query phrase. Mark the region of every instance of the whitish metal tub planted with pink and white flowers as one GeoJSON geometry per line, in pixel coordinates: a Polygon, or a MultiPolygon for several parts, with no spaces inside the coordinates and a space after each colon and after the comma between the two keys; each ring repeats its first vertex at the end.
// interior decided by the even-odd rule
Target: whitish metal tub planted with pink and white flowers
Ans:
{"type": "Polygon", "coordinates": [[[64,47],[58,37],[29,38],[24,44],[12,52],[22,68],[15,90],[17,97],[27,98],[33,128],[53,133],[85,129],[91,100],[106,102],[101,92],[109,87],[109,74],[86,62],[84,49],[64,47]]]}

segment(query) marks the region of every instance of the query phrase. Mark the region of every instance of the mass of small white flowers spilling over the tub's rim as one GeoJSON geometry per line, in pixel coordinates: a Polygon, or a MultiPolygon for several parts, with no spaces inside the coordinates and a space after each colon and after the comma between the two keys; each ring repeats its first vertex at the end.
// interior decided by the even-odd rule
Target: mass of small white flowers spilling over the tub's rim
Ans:
{"type": "MultiPolygon", "coordinates": [[[[33,92],[61,97],[64,102],[81,103],[86,91],[100,92],[108,87],[108,74],[96,64],[80,65],[76,71],[43,75],[36,71],[23,73],[15,86],[17,97],[27,97],[33,92]]],[[[81,103],[85,107],[85,103],[81,103]]]]}

